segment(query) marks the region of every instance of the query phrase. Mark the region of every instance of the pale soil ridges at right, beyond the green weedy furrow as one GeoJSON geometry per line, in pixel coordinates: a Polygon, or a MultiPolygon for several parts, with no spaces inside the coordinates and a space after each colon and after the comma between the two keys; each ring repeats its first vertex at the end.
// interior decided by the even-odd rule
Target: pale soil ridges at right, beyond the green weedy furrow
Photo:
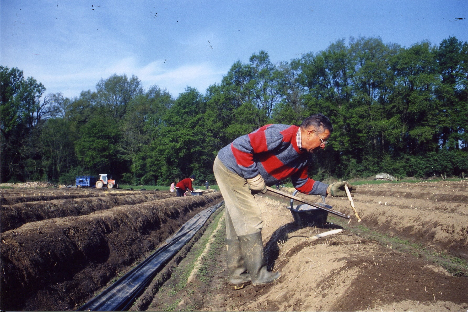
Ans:
{"type": "MultiPolygon", "coordinates": [[[[350,207],[343,198],[329,203],[350,207]]],[[[355,203],[363,225],[468,260],[468,181],[366,185],[355,203]]]]}

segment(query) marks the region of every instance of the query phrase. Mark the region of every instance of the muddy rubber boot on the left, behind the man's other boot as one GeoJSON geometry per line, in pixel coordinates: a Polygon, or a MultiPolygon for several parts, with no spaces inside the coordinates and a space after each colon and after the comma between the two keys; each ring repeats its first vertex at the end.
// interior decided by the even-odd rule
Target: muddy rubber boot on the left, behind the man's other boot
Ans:
{"type": "Polygon", "coordinates": [[[240,290],[251,283],[250,274],[244,264],[239,239],[226,239],[227,271],[229,286],[232,290],[240,290]]]}

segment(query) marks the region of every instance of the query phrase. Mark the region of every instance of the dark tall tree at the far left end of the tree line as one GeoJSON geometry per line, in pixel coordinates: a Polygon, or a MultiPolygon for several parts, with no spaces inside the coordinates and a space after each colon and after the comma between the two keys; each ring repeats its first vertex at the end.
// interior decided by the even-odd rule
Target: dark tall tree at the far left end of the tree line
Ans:
{"type": "Polygon", "coordinates": [[[35,175],[37,136],[44,118],[53,111],[45,87],[18,68],[0,66],[1,180],[24,181],[35,175]]]}

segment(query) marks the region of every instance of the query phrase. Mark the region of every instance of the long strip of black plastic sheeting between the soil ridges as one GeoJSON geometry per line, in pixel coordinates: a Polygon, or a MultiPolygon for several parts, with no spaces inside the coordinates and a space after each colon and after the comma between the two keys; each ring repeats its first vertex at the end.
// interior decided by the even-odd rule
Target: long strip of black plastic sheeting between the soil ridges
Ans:
{"type": "Polygon", "coordinates": [[[199,212],[182,225],[176,234],[167,239],[164,246],[76,311],[127,311],[133,300],[151,283],[160,268],[163,268],[197,233],[222,204],[224,202],[199,212]]]}

